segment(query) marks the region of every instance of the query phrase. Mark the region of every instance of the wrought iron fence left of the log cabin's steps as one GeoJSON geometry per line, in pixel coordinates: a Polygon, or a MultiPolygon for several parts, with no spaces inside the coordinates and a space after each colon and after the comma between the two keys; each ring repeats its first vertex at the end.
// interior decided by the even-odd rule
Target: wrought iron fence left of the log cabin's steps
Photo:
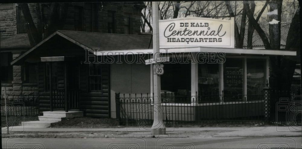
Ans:
{"type": "Polygon", "coordinates": [[[39,115],[39,98],[36,95],[1,96],[1,116],[39,115]]]}

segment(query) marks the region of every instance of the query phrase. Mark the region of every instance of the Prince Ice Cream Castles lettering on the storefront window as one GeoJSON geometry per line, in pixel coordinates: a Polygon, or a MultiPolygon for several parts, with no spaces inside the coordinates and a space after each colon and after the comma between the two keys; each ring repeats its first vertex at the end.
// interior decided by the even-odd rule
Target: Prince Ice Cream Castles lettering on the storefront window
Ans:
{"type": "Polygon", "coordinates": [[[223,70],[223,80],[227,86],[242,87],[243,73],[242,69],[236,67],[226,67],[223,70]]]}

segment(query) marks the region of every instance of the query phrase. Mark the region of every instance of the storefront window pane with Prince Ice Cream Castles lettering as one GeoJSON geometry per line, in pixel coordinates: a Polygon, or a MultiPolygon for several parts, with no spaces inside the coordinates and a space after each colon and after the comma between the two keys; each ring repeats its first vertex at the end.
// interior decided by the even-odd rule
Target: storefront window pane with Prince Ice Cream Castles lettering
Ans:
{"type": "Polygon", "coordinates": [[[243,100],[243,60],[226,58],[223,69],[223,101],[243,100]]]}

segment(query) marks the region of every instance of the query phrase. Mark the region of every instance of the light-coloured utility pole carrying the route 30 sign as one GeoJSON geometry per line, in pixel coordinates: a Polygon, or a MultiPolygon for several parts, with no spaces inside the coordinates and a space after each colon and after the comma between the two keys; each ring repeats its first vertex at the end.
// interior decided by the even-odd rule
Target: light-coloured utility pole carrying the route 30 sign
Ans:
{"type": "MultiPolygon", "coordinates": [[[[153,59],[159,57],[159,11],[158,2],[152,2],[152,19],[153,19],[153,59]]],[[[152,64],[155,68],[156,64],[152,64]]],[[[153,69],[154,70],[154,69],[153,69]]],[[[151,71],[152,73],[152,71],[151,71]]],[[[154,89],[154,121],[152,125],[152,134],[165,134],[166,128],[163,122],[164,114],[160,97],[160,76],[153,71],[153,89],[154,89]]],[[[152,94],[152,93],[151,93],[152,94]]]]}

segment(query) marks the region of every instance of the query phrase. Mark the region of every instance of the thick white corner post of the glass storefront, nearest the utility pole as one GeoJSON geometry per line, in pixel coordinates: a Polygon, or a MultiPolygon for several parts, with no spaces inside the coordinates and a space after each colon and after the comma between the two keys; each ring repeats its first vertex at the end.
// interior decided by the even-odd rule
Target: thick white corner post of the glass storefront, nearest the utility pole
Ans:
{"type": "MultiPolygon", "coordinates": [[[[196,53],[193,53],[196,57],[196,53]]],[[[192,60],[191,62],[191,103],[197,103],[198,96],[198,63],[192,60]],[[193,101],[194,98],[194,101],[193,101]]]]}

